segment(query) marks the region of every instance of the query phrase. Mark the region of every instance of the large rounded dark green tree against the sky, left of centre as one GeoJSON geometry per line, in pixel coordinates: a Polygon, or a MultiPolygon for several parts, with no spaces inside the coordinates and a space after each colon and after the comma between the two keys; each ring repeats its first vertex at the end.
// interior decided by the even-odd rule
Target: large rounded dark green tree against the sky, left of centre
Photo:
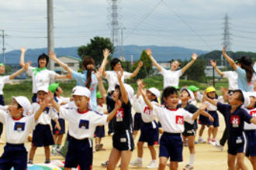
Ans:
{"type": "MultiPolygon", "coordinates": [[[[114,53],[114,45],[109,38],[103,38],[95,36],[93,39],[90,39],[90,43],[86,46],[80,46],[78,48],[78,56],[83,59],[85,56],[92,56],[95,60],[95,66],[102,63],[103,59],[103,49],[109,49],[110,53],[114,53]]],[[[109,56],[111,59],[111,56],[109,56]]]]}

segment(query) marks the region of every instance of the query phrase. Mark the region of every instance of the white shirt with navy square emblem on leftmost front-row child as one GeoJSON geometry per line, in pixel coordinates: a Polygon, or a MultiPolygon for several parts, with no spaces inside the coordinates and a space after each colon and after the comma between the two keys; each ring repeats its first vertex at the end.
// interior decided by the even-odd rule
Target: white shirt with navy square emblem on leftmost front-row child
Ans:
{"type": "Polygon", "coordinates": [[[5,140],[10,144],[24,144],[36,124],[34,115],[15,119],[2,110],[0,110],[0,121],[5,124],[5,140]]]}

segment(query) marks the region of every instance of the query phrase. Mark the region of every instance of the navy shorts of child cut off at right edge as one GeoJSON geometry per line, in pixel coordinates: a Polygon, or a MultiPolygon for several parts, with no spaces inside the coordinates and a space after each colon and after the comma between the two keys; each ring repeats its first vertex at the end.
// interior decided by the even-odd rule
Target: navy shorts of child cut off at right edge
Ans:
{"type": "Polygon", "coordinates": [[[244,131],[245,135],[248,140],[248,148],[246,151],[246,156],[256,156],[256,130],[251,130],[251,131],[244,131]]]}

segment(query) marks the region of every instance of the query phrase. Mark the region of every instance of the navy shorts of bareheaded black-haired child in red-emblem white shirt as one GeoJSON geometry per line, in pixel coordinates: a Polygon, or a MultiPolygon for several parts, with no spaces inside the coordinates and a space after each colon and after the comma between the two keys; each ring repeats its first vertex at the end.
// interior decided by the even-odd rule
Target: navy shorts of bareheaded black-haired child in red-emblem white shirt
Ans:
{"type": "Polygon", "coordinates": [[[160,139],[159,157],[170,157],[171,162],[182,162],[182,150],[181,134],[164,132],[160,139]]]}

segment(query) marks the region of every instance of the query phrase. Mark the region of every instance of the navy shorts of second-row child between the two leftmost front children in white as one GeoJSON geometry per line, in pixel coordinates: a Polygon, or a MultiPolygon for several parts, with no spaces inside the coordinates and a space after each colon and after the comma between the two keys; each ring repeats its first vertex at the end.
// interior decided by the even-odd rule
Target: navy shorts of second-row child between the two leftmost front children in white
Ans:
{"type": "Polygon", "coordinates": [[[50,124],[36,124],[36,128],[33,131],[32,146],[42,147],[49,145],[54,145],[50,124]]]}

